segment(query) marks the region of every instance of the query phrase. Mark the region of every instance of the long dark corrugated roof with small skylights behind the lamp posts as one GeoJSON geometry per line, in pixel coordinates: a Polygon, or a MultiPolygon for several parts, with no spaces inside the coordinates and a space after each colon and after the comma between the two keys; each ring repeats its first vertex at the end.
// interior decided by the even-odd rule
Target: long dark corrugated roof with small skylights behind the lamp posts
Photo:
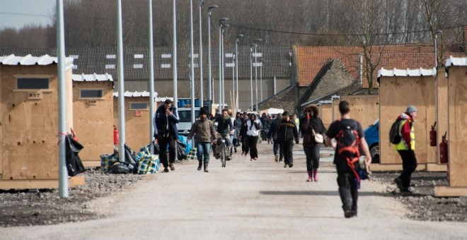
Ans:
{"type": "MultiPolygon", "coordinates": [[[[197,54],[199,47],[195,47],[197,54]]],[[[226,46],[225,64],[232,63],[231,54],[235,51],[235,46],[226,46]]],[[[154,78],[172,79],[172,47],[154,47],[154,78]]],[[[178,79],[188,79],[190,76],[190,47],[177,48],[178,79]]],[[[208,77],[207,47],[203,47],[203,78],[208,77]]],[[[259,63],[260,59],[265,59],[263,63],[263,78],[289,78],[290,77],[290,46],[258,46],[257,49],[259,63]],[[260,55],[260,56],[259,56],[260,55]]],[[[1,55],[9,54],[33,54],[33,55],[56,55],[57,49],[24,49],[6,48],[0,49],[1,55]]],[[[69,47],[67,55],[74,59],[74,73],[109,73],[117,80],[117,48],[116,47],[69,47]]],[[[146,80],[149,78],[149,49],[148,47],[125,47],[125,80],[146,80]]],[[[195,55],[196,56],[196,55],[195,55]]],[[[212,77],[219,78],[219,47],[212,47],[212,77]]],[[[254,59],[253,59],[254,61],[254,59]]],[[[195,57],[195,66],[199,59],[195,57]]],[[[195,67],[195,75],[200,69],[195,67]]],[[[253,68],[255,71],[255,68],[253,68]]],[[[233,76],[232,67],[225,68],[225,78],[231,79],[233,76]]],[[[253,76],[255,73],[253,72],[253,76]]],[[[238,77],[250,78],[250,47],[238,46],[238,77]]],[[[199,77],[198,77],[199,78],[199,77]]],[[[258,79],[260,78],[260,68],[258,68],[258,79]]]]}

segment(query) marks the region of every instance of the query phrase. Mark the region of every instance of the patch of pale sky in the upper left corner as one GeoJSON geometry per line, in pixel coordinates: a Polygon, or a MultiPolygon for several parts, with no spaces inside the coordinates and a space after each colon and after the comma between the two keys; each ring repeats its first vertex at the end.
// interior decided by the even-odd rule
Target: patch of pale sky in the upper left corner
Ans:
{"type": "MultiPolygon", "coordinates": [[[[99,1],[99,0],[96,0],[99,1]]],[[[0,0],[0,29],[22,28],[30,23],[50,25],[56,0],[0,0]]]]}

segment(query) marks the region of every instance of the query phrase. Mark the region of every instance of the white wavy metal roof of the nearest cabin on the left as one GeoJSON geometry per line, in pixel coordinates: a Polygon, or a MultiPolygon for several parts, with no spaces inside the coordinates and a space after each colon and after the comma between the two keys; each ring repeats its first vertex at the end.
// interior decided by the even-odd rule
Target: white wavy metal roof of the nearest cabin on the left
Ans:
{"type": "MultiPolygon", "coordinates": [[[[42,56],[32,56],[27,54],[26,56],[15,56],[10,54],[8,56],[0,56],[0,64],[2,65],[23,65],[23,66],[33,66],[33,65],[42,65],[47,66],[50,64],[58,64],[58,59],[55,56],[49,56],[48,54],[42,56]]],[[[73,58],[65,58],[65,68],[69,69],[73,66],[73,58]]]]}

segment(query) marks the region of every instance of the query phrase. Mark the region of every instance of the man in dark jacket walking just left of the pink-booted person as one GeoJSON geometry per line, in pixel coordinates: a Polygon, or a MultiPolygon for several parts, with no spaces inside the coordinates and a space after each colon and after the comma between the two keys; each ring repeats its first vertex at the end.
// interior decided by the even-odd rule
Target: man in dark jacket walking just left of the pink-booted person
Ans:
{"type": "Polygon", "coordinates": [[[297,131],[295,122],[290,119],[289,112],[287,111],[282,114],[282,121],[279,122],[277,138],[280,141],[279,145],[284,154],[284,167],[293,167],[294,158],[292,149],[294,148],[294,139],[295,143],[299,144],[299,131],[297,131]]]}

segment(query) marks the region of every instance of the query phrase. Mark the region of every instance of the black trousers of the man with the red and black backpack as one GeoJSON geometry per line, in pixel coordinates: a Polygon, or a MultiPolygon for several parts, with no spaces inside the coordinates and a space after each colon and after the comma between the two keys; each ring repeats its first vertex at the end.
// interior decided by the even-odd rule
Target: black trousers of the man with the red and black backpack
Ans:
{"type": "Polygon", "coordinates": [[[355,174],[347,165],[346,160],[335,162],[335,168],[338,172],[338,186],[342,207],[344,205],[352,206],[352,212],[357,213],[358,189],[355,183],[355,174]]]}

